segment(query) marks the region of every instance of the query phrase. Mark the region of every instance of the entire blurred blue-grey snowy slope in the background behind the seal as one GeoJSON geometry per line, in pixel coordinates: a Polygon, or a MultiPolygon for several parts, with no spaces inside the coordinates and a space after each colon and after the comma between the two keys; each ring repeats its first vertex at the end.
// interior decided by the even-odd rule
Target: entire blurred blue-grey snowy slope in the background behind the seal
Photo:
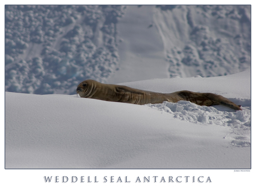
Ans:
{"type": "Polygon", "coordinates": [[[5,6],[6,91],[250,68],[250,6],[5,6]]]}

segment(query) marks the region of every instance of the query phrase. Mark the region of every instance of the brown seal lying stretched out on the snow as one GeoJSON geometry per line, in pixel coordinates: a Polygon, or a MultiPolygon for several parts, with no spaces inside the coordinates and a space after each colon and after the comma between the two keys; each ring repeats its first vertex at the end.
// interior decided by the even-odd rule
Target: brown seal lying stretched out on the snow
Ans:
{"type": "Polygon", "coordinates": [[[159,93],[144,91],[117,84],[104,84],[91,79],[78,84],[76,92],[82,98],[94,98],[103,101],[125,102],[136,105],[148,103],[162,103],[190,101],[200,106],[223,105],[234,110],[242,110],[227,98],[213,93],[199,93],[191,91],[177,91],[173,93],[159,93]]]}

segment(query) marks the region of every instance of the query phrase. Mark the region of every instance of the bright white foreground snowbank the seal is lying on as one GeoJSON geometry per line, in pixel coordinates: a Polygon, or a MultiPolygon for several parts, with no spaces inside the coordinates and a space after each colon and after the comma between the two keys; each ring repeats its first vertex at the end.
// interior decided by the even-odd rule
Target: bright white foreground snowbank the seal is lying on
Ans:
{"type": "Polygon", "coordinates": [[[6,168],[250,168],[250,69],[122,84],[213,92],[243,111],[6,92],[6,168]]]}

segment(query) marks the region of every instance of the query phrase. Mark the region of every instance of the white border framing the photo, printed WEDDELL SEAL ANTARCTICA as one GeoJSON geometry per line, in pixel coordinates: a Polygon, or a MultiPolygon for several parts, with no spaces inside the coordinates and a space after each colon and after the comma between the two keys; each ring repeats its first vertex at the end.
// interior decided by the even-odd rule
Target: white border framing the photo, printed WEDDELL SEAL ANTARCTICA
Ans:
{"type": "MultiPolygon", "coordinates": [[[[170,4],[171,1],[8,1],[4,4],[170,4]]],[[[255,1],[212,1],[212,2],[205,2],[205,1],[182,1],[179,2],[180,4],[251,4],[252,5],[252,43],[254,44],[254,12],[255,12],[255,1]]],[[[1,34],[4,36],[4,4],[2,6],[3,12],[1,14],[1,34]]],[[[2,44],[2,73],[4,72],[4,37],[1,38],[2,44]]],[[[252,62],[254,61],[253,57],[253,50],[254,46],[252,44],[252,62]]],[[[254,72],[254,64],[252,63],[252,73],[254,72]]],[[[4,73],[1,74],[1,89],[4,88],[4,73]]],[[[254,94],[254,77],[252,74],[252,97],[254,94]]],[[[1,92],[1,185],[5,186],[4,188],[19,188],[19,187],[26,187],[26,188],[102,188],[102,187],[111,187],[111,188],[251,188],[254,183],[254,175],[255,175],[255,166],[253,157],[255,157],[255,145],[254,145],[254,108],[252,108],[252,170],[250,172],[234,172],[234,170],[4,170],[4,91],[1,92]],[[71,183],[68,181],[67,183],[45,183],[44,176],[59,176],[60,181],[62,176],[90,176],[91,178],[97,176],[99,180],[98,183],[81,183],[77,181],[76,183],[71,183]],[[114,176],[115,182],[104,183],[103,177],[107,176],[114,176]],[[122,178],[122,183],[116,182],[118,177],[122,178]],[[125,183],[124,178],[127,176],[130,183],[125,183]],[[150,176],[151,181],[150,183],[135,183],[136,177],[140,176],[141,178],[144,176],[150,176]],[[152,176],[158,176],[161,178],[164,176],[167,178],[168,176],[178,177],[178,176],[190,176],[195,178],[199,176],[204,176],[204,182],[199,183],[195,182],[185,182],[183,178],[183,182],[181,183],[165,183],[161,182],[160,179],[157,182],[154,182],[152,176]],[[211,183],[205,183],[206,178],[210,177],[211,183]]],[[[252,98],[252,106],[254,107],[254,98],[252,98]]],[[[202,178],[202,177],[201,177],[202,178]]]]}

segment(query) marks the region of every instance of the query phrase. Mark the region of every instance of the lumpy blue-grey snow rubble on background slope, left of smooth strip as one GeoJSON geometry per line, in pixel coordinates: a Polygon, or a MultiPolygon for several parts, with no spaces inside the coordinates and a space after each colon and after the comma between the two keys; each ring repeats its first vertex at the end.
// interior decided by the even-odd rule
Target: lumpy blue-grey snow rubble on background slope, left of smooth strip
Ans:
{"type": "Polygon", "coordinates": [[[83,79],[106,82],[118,69],[116,24],[124,9],[7,5],[6,91],[71,94],[83,79]]]}

